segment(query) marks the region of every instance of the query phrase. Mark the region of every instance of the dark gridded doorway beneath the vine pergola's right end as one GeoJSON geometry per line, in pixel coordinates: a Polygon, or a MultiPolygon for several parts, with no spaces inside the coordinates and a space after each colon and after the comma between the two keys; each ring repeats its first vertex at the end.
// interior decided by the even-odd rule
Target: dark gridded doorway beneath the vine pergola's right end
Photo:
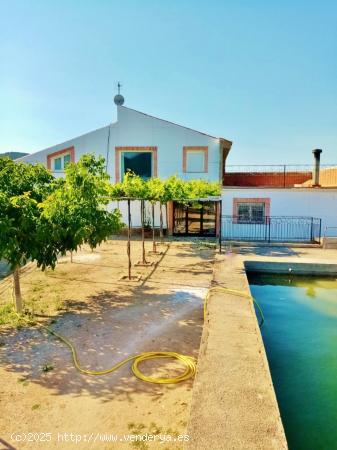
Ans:
{"type": "Polygon", "coordinates": [[[173,203],[173,234],[216,236],[216,202],[173,203]]]}

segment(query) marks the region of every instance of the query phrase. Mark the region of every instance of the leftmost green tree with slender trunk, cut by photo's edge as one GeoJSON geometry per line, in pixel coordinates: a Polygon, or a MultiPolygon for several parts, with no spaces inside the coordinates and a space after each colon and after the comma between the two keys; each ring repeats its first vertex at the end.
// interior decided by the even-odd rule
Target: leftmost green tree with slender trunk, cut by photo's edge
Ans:
{"type": "Polygon", "coordinates": [[[0,159],[0,259],[13,273],[15,307],[22,311],[20,266],[29,260],[53,266],[57,252],[49,245],[50,230],[41,223],[41,203],[53,188],[42,165],[0,159]]]}

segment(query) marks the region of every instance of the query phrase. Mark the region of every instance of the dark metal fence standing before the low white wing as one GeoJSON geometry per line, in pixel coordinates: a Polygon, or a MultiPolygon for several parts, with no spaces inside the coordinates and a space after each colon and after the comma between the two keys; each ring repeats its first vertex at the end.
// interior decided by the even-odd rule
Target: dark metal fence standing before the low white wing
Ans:
{"type": "Polygon", "coordinates": [[[264,242],[320,242],[321,219],[316,217],[267,216],[261,221],[222,216],[224,240],[264,242]]]}

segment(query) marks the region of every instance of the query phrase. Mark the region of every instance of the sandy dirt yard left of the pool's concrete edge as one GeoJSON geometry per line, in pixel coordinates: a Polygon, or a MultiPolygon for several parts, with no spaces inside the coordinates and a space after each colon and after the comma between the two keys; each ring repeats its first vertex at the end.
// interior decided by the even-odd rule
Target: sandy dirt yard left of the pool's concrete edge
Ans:
{"type": "MultiPolygon", "coordinates": [[[[146,246],[151,249],[150,242],[146,246]]],[[[162,255],[148,256],[155,265],[133,267],[142,276],[138,282],[120,281],[127,272],[125,241],[109,241],[93,253],[83,249],[72,264],[62,258],[54,272],[27,271],[23,296],[40,320],[49,323],[54,315],[52,327],[75,344],[88,369],[152,350],[197,357],[214,251],[189,243],[158,249],[162,255]]],[[[133,262],[140,254],[140,242],[133,243],[133,262]]],[[[182,448],[169,439],[186,433],[193,380],[145,383],[130,364],[105,376],[82,375],[68,348],[38,326],[0,332],[0,448],[182,448]],[[125,442],[130,434],[160,434],[165,443],[125,442]],[[111,435],[118,435],[117,443],[106,441],[116,439],[111,435]]],[[[142,363],[142,369],[149,375],[181,372],[163,361],[142,363]]]]}

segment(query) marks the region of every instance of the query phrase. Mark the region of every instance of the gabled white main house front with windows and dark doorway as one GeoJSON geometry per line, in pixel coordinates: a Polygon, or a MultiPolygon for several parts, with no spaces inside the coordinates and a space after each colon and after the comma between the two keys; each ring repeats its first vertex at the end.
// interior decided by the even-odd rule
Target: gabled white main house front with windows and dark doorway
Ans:
{"type": "MultiPolygon", "coordinates": [[[[95,153],[105,158],[112,182],[121,181],[127,170],[144,178],[158,176],[166,179],[177,175],[184,180],[198,178],[221,182],[231,145],[227,139],[117,105],[115,123],[28,155],[20,161],[42,163],[55,177],[60,177],[64,176],[67,163],[78,161],[85,153],[95,153]]],[[[110,205],[111,208],[116,206],[117,203],[110,205]]],[[[147,215],[150,215],[148,206],[147,215]]],[[[168,223],[165,220],[164,225],[169,232],[205,236],[218,234],[218,203],[203,202],[201,208],[192,206],[168,205],[168,223]]],[[[126,222],[126,202],[119,202],[118,207],[126,222]]],[[[158,206],[156,209],[158,221],[158,206]]],[[[132,225],[140,226],[139,202],[132,202],[131,216],[132,225]]]]}

